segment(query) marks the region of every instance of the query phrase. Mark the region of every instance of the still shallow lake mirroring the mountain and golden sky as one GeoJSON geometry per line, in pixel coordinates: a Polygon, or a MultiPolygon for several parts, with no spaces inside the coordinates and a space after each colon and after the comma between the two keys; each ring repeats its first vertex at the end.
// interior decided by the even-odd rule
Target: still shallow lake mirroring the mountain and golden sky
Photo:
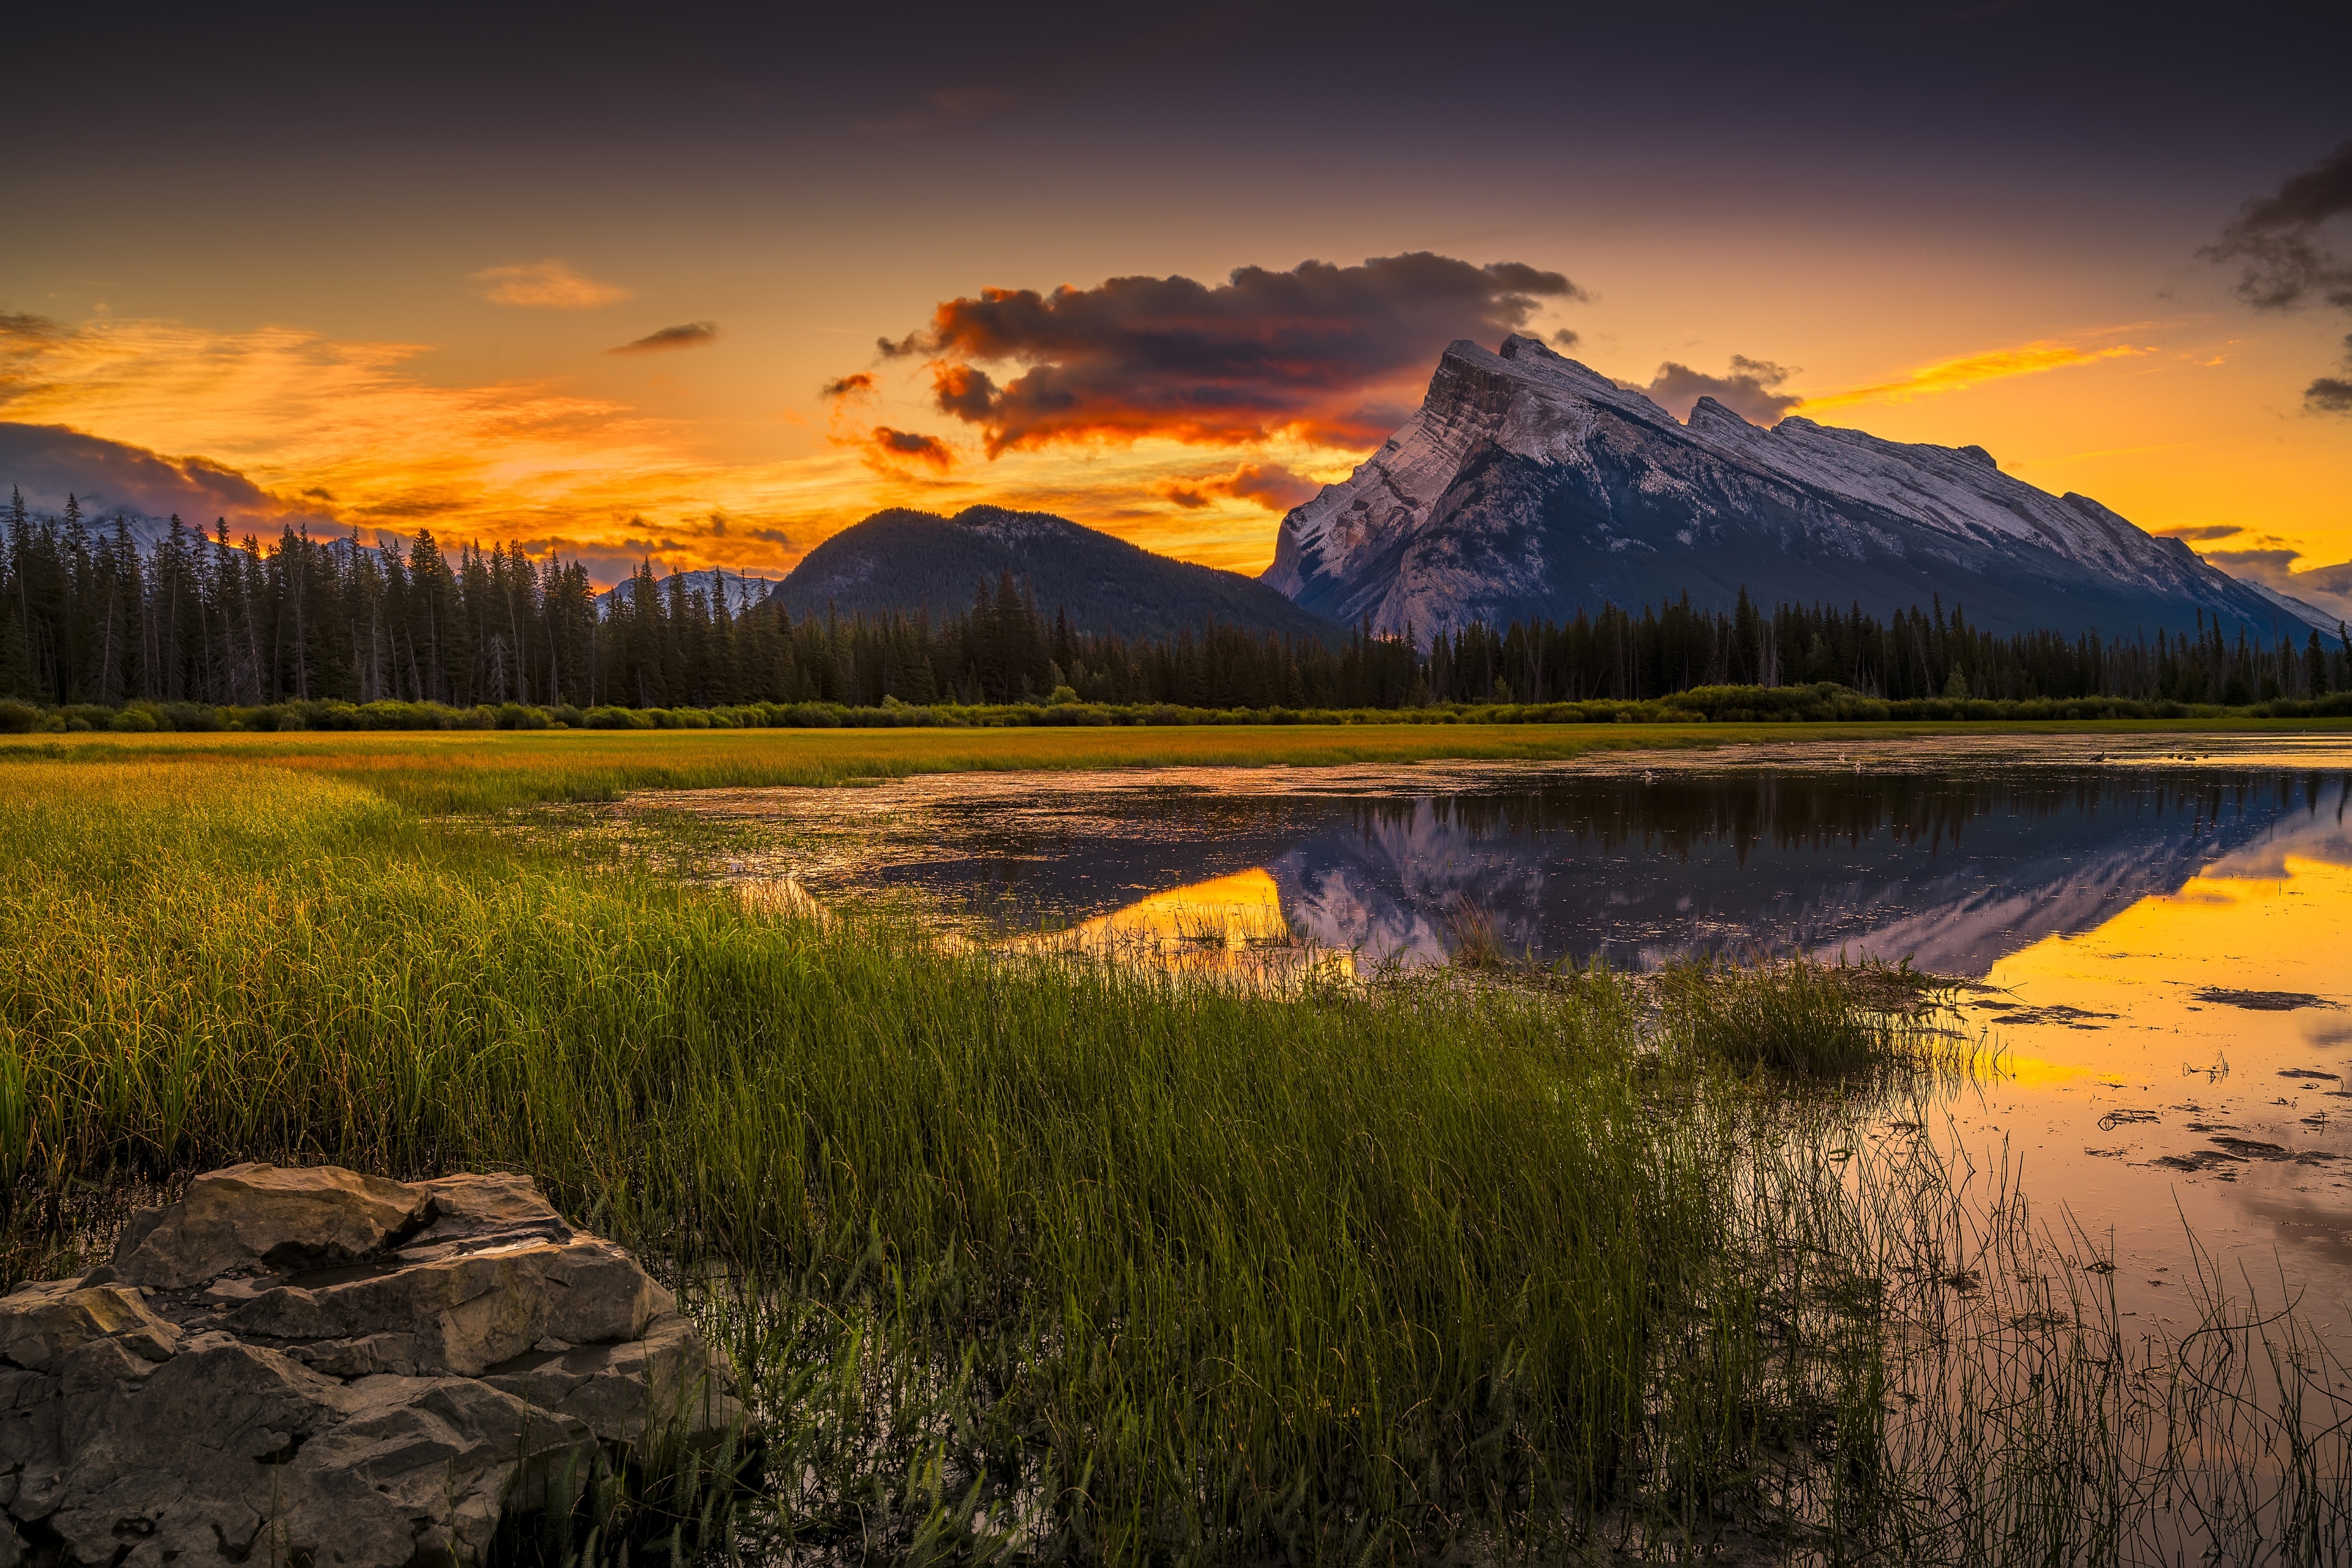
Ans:
{"type": "MultiPolygon", "coordinates": [[[[1178,964],[1910,959],[1999,1070],[1931,1128],[2185,1326],[2241,1295],[2352,1324],[2352,741],[1955,738],[1569,764],[957,773],[659,799],[753,830],[741,879],[903,896],[978,940],[1178,964]],[[760,846],[771,825],[774,849],[760,846]],[[1058,936],[1049,936],[1058,933],[1058,936]]],[[[1907,1135],[1889,1119],[1875,1135],[1907,1135]]]]}

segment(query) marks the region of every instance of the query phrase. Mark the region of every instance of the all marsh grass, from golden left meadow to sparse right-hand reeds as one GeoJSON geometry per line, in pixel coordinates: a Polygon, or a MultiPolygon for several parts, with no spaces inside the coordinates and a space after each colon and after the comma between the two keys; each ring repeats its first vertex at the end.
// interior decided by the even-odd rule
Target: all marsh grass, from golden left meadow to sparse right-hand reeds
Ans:
{"type": "Polygon", "coordinates": [[[1976,1041],[1917,976],[948,950],[419,811],[630,766],[496,741],[0,769],[9,1279],[233,1159],[529,1171],[736,1356],[762,1561],[2352,1540],[2317,1345],[2218,1281],[2131,1340],[2096,1248],[1938,1164],[1903,1067],[1976,1041]]]}

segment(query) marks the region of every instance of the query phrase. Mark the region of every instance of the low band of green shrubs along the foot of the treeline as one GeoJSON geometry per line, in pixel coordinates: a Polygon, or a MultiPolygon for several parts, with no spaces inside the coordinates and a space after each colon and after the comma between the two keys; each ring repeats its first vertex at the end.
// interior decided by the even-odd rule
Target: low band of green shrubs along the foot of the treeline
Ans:
{"type": "Polygon", "coordinates": [[[0,698],[0,733],[430,731],[430,729],[1018,729],[1134,724],[1872,724],[2034,719],[2352,719],[2352,691],[2223,708],[2138,698],[1907,698],[1816,686],[1696,686],[1644,701],[1430,703],[1421,708],[1178,708],[1171,703],[736,703],[729,708],[532,708],[524,703],[75,703],[0,698]]]}

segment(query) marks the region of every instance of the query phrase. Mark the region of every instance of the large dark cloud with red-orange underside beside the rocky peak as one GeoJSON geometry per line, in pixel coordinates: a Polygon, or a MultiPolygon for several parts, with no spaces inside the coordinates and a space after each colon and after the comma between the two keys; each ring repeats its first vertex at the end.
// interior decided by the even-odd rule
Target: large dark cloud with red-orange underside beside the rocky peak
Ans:
{"type": "Polygon", "coordinates": [[[880,348],[929,357],[938,409],[981,425],[990,456],[1141,435],[1240,444],[1277,430],[1369,447],[1390,425],[1367,423],[1367,393],[1425,376],[1454,339],[1517,331],[1548,299],[1583,292],[1517,261],[1416,252],[1237,268],[1216,287],[1112,277],[1051,294],[983,289],[880,348]],[[997,381],[983,364],[1025,369],[997,381]]]}

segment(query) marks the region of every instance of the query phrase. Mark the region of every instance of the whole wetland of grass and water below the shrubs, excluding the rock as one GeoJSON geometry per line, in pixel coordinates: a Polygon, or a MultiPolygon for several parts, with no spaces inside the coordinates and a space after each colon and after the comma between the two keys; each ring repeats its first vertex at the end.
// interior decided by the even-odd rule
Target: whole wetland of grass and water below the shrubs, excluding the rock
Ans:
{"type": "Polygon", "coordinates": [[[532,1173],[750,1408],[597,1561],[2340,1561],[2347,780],[2314,722],[0,738],[0,1258],[238,1159],[532,1173]]]}

